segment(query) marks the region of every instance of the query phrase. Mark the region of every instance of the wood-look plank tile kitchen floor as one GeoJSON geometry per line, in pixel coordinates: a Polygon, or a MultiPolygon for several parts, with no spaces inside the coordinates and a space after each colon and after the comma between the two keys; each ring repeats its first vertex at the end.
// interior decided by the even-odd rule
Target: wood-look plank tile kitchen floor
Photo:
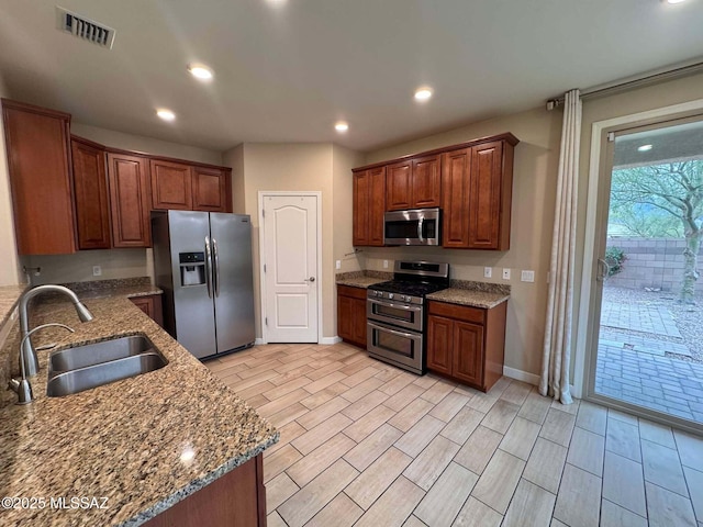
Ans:
{"type": "Polygon", "coordinates": [[[484,394],[345,344],[207,366],[280,430],[264,456],[270,527],[703,527],[693,435],[507,378],[484,394]]]}

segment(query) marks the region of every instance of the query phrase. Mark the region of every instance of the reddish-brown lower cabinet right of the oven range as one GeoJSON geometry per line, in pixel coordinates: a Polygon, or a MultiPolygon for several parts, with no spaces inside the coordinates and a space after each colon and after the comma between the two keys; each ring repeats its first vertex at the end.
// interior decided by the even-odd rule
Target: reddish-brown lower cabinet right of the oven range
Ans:
{"type": "Polygon", "coordinates": [[[428,302],[427,369],[489,391],[503,374],[506,307],[428,302]]]}

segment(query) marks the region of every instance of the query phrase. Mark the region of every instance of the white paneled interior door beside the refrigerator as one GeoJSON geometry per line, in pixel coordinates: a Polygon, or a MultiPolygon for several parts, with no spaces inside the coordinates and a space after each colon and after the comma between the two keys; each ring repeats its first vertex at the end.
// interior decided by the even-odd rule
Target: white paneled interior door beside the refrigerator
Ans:
{"type": "Polygon", "coordinates": [[[269,343],[316,343],[317,195],[264,194],[264,333],[269,343]]]}

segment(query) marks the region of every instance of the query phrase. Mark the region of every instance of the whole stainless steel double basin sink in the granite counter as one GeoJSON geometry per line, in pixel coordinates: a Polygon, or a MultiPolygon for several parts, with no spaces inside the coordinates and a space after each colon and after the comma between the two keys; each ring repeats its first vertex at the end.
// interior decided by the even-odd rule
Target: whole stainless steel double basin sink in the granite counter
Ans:
{"type": "Polygon", "coordinates": [[[60,397],[164,368],[168,360],[144,335],[115,337],[49,356],[46,394],[60,397]]]}

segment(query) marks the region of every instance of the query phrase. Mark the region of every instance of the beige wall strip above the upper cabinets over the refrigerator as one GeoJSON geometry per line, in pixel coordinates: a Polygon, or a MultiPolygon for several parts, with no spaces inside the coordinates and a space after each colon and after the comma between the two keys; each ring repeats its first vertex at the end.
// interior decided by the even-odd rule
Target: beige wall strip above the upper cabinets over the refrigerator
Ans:
{"type": "Polygon", "coordinates": [[[222,154],[220,152],[199,148],[197,146],[181,145],[179,143],[155,139],[143,135],[125,134],[123,132],[99,128],[77,122],[70,123],[70,132],[71,134],[113,148],[143,152],[155,156],[175,157],[189,161],[222,165],[222,154]]]}

